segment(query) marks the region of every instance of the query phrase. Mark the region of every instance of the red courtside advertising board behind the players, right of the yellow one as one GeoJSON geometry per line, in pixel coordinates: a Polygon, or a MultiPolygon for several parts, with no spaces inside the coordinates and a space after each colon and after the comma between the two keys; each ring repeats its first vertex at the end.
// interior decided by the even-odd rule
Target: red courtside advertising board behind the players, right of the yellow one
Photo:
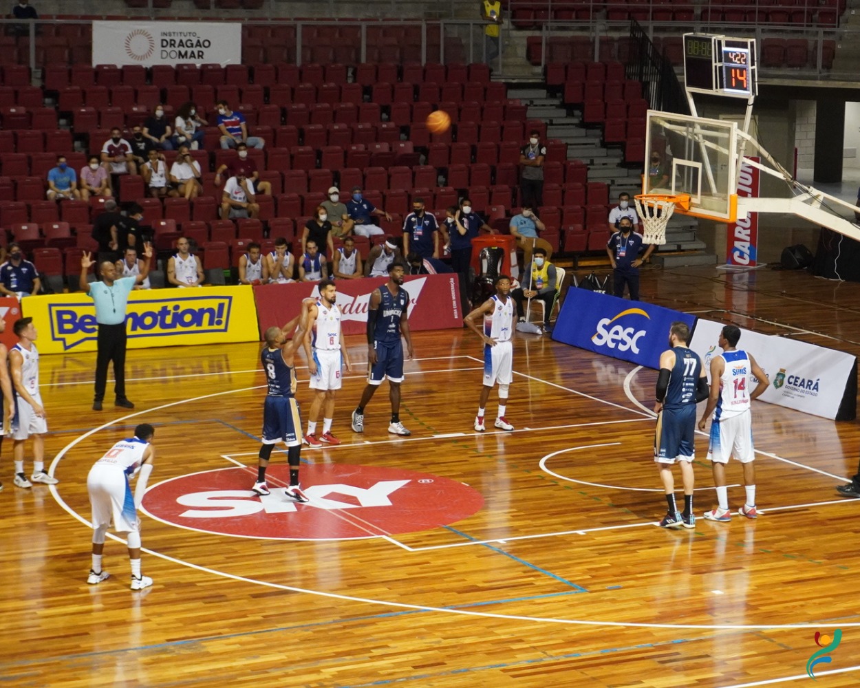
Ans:
{"type": "MultiPolygon", "coordinates": [[[[371,293],[388,281],[385,277],[338,279],[337,305],[343,317],[344,335],[361,335],[366,331],[367,306],[371,293]]],[[[403,288],[409,294],[409,329],[449,329],[463,327],[458,276],[448,274],[413,275],[403,288]]],[[[260,338],[270,327],[282,326],[298,314],[302,299],[319,294],[316,282],[254,287],[260,338]]]]}

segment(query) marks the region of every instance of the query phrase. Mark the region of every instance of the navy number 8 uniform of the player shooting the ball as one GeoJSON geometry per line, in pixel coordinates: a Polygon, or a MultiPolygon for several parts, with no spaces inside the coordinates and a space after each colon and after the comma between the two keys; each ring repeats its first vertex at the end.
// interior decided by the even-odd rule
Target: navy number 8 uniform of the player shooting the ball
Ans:
{"type": "Polygon", "coordinates": [[[263,347],[261,360],[268,384],[263,406],[263,444],[284,442],[287,446],[300,446],[302,420],[294,396],[298,382],[296,372],[286,365],[279,348],[270,351],[269,347],[263,347]]]}

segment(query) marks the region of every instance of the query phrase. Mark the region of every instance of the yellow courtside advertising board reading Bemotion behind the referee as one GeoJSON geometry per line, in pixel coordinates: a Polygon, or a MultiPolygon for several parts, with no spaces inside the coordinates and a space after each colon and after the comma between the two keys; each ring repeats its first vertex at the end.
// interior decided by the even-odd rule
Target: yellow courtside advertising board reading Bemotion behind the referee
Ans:
{"type": "MultiPolygon", "coordinates": [[[[95,306],[83,292],[29,296],[21,305],[39,332],[40,353],[95,351],[95,306]]],[[[138,349],[260,338],[251,286],[132,292],[126,331],[128,347],[138,349]]]]}

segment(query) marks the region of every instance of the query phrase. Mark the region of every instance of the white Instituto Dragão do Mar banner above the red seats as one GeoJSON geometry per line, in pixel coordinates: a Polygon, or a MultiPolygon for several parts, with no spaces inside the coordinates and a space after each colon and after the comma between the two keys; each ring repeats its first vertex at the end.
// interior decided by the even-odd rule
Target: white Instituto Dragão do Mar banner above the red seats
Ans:
{"type": "Polygon", "coordinates": [[[238,22],[93,22],[93,65],[242,61],[238,22]]]}

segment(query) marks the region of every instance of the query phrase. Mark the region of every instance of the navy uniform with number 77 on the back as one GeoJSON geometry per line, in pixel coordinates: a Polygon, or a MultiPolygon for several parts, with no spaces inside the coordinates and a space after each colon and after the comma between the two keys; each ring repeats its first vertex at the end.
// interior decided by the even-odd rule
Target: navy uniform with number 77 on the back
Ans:
{"type": "Polygon", "coordinates": [[[673,347],[675,365],[669,373],[669,386],[663,411],[654,434],[654,461],[673,464],[675,459],[692,461],[696,451],[696,387],[702,375],[702,361],[686,347],[673,347]]]}

